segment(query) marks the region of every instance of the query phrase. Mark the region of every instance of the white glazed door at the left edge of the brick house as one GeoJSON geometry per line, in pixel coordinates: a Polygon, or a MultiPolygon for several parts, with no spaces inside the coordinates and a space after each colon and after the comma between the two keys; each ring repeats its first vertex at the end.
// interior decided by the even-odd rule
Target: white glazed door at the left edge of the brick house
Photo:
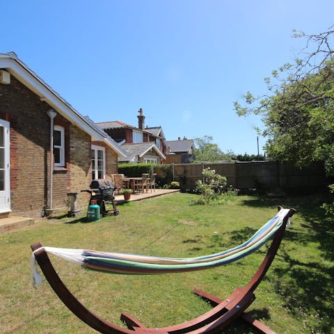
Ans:
{"type": "Polygon", "coordinates": [[[10,211],[9,122],[0,120],[0,213],[10,211]]]}

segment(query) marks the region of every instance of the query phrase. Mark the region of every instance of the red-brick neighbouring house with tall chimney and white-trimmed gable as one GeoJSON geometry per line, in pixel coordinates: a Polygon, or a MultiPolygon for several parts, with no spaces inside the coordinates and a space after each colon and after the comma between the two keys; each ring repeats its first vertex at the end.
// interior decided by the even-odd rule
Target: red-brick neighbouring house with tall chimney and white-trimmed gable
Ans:
{"type": "Polygon", "coordinates": [[[97,125],[127,152],[127,157],[118,157],[118,161],[162,164],[166,159],[164,132],[161,127],[145,127],[143,109],[139,109],[138,113],[138,127],[119,120],[97,125]]]}

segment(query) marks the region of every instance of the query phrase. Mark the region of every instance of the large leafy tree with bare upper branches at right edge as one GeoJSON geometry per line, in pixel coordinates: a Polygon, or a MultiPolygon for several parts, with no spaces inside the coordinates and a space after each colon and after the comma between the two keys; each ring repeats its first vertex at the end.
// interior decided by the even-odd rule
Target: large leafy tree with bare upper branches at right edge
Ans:
{"type": "Polygon", "coordinates": [[[271,95],[248,92],[246,106],[234,102],[234,109],[239,116],[262,116],[264,148],[272,159],[296,166],[323,161],[328,175],[334,175],[333,26],[319,35],[296,32],[294,37],[306,38],[306,47],[293,64],[264,79],[271,95]]]}

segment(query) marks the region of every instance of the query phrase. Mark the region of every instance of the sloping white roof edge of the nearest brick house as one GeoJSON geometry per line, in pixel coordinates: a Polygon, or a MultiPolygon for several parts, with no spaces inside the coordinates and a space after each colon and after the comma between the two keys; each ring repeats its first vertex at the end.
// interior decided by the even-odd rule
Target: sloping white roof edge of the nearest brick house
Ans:
{"type": "Polygon", "coordinates": [[[102,136],[81,116],[68,102],[66,102],[58,93],[56,93],[45,81],[42,81],[37,74],[29,69],[17,57],[10,54],[0,54],[0,68],[6,68],[10,74],[22,82],[24,86],[29,88],[33,93],[40,97],[41,101],[47,102],[51,108],[61,114],[79,129],[93,137],[95,141],[104,141],[106,145],[115,150],[118,155],[125,157],[124,154],[107,140],[106,136],[102,136]]]}

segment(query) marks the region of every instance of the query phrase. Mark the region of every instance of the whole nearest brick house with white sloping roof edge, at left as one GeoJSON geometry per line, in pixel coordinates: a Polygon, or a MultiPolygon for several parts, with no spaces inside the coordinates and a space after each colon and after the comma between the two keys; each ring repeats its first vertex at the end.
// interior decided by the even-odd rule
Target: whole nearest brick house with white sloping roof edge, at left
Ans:
{"type": "MultiPolygon", "coordinates": [[[[0,218],[65,209],[67,192],[111,178],[125,155],[15,53],[0,54],[0,218]]],[[[88,198],[79,192],[79,207],[88,198]]]]}

